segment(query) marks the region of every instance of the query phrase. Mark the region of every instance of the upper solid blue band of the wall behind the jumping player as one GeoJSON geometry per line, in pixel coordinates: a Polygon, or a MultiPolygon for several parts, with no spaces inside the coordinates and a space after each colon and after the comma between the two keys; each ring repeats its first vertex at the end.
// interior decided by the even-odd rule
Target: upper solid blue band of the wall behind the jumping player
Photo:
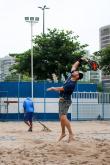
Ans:
{"type": "MultiPolygon", "coordinates": [[[[34,82],[33,95],[35,98],[58,98],[57,92],[46,92],[51,86],[62,86],[62,83],[34,82]]],[[[96,84],[77,84],[75,91],[97,92],[96,84]]],[[[0,97],[25,98],[31,97],[31,82],[0,82],[0,97]]]]}

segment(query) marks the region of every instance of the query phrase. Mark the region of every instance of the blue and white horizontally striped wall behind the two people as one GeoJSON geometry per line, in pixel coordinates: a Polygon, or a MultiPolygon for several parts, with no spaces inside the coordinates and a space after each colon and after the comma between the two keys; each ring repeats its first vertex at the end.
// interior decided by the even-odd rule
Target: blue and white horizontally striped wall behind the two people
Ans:
{"type": "MultiPolygon", "coordinates": [[[[62,86],[62,83],[34,82],[35,119],[36,120],[59,120],[58,92],[46,92],[51,86],[62,86]]],[[[96,84],[77,84],[76,92],[96,92],[96,84]]],[[[76,95],[76,94],[75,94],[76,95]]],[[[0,120],[23,120],[23,99],[31,97],[31,82],[0,82],[0,120]],[[6,101],[17,103],[2,104],[6,101]],[[6,108],[7,107],[7,108],[6,108]]],[[[76,95],[77,97],[77,95],[76,95]]],[[[71,112],[68,113],[71,120],[71,112]]]]}

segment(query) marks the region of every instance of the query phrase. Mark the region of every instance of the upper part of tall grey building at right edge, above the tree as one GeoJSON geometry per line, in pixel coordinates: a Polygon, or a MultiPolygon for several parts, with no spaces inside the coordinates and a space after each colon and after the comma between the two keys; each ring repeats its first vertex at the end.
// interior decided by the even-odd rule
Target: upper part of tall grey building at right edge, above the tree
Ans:
{"type": "Polygon", "coordinates": [[[99,29],[100,49],[110,45],[110,25],[103,26],[99,29]]]}

